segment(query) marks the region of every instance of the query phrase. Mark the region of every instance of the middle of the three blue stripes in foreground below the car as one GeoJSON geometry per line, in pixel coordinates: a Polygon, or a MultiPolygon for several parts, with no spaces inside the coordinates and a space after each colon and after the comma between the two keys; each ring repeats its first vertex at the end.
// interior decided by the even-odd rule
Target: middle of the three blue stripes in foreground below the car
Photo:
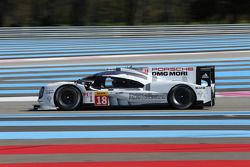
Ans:
{"type": "Polygon", "coordinates": [[[250,120],[59,120],[1,121],[0,126],[146,126],[146,125],[250,125],[250,120]]]}

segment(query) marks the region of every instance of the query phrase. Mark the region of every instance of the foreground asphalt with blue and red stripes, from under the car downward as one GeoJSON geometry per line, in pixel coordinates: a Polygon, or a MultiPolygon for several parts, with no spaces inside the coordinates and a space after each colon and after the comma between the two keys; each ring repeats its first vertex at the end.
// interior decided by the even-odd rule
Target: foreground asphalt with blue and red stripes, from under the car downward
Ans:
{"type": "Polygon", "coordinates": [[[250,137],[237,137],[237,134],[231,137],[231,135],[238,131],[240,133],[249,131],[249,101],[250,98],[246,97],[218,97],[215,107],[203,110],[79,110],[70,112],[30,111],[34,102],[1,102],[0,166],[3,164],[8,166],[12,163],[17,163],[15,164],[17,166],[27,166],[27,162],[33,163],[32,165],[52,163],[47,166],[61,166],[65,165],[65,162],[69,163],[68,166],[77,166],[76,162],[80,163],[79,166],[98,166],[93,163],[87,164],[87,162],[102,162],[100,166],[121,166],[121,164],[126,164],[124,161],[131,162],[132,166],[146,166],[150,164],[148,161],[154,162],[153,165],[163,163],[162,166],[170,162],[175,162],[173,166],[176,163],[182,163],[185,166],[191,163],[191,166],[196,166],[199,161],[201,162],[197,166],[204,166],[204,164],[225,166],[226,161],[229,160],[232,160],[232,164],[238,162],[242,166],[247,166],[249,162],[246,160],[250,158],[250,137]],[[150,125],[151,123],[140,125],[140,121],[145,120],[151,123],[153,121],[165,121],[165,123],[163,125],[150,125]],[[32,121],[33,123],[29,125],[32,121]],[[53,121],[54,123],[62,121],[63,124],[72,121],[72,125],[49,125],[49,121],[52,121],[52,124],[53,121]],[[96,125],[87,125],[88,123],[77,125],[77,122],[87,121],[95,121],[96,125]],[[98,122],[102,124],[103,121],[109,122],[106,126],[97,126],[98,122]],[[110,126],[109,123],[112,121],[132,123],[129,126],[110,126]],[[171,121],[176,122],[170,123],[171,121]],[[189,121],[188,124],[185,123],[187,121],[189,121]],[[208,123],[204,124],[206,121],[208,123]],[[213,122],[209,123],[210,121],[213,122]],[[38,124],[35,125],[34,122],[38,124]],[[133,125],[134,123],[136,125],[133,125]],[[133,135],[112,137],[110,134],[105,136],[104,133],[104,136],[100,138],[52,137],[53,133],[89,133],[90,131],[122,135],[123,132],[131,130],[142,135],[150,132],[168,132],[174,135],[179,133],[181,136],[183,135],[181,133],[185,132],[190,134],[186,137],[169,137],[169,134],[165,137],[134,137],[133,135]],[[199,132],[199,135],[192,134],[194,131],[199,132]],[[215,136],[212,134],[211,137],[208,131],[219,131],[219,133],[215,136]],[[22,132],[25,134],[22,135],[22,132]],[[43,138],[46,136],[43,134],[42,138],[29,139],[29,133],[31,136],[36,136],[42,132],[51,132],[50,137],[43,138]],[[10,133],[12,133],[10,139],[4,139],[10,133]],[[223,136],[223,133],[226,135],[223,136]],[[185,162],[187,160],[189,162],[185,162]],[[136,163],[139,164],[136,165],[136,163]]]}

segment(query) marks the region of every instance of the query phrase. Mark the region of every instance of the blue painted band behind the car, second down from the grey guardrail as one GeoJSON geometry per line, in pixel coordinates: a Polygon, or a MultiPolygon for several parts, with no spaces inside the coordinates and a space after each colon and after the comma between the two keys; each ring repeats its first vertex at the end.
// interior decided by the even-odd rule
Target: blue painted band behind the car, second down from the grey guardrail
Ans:
{"type": "MultiPolygon", "coordinates": [[[[240,42],[238,42],[240,43],[240,42]]],[[[31,53],[53,53],[53,52],[66,52],[66,53],[81,53],[81,52],[86,52],[86,51],[91,51],[91,50],[124,50],[124,49],[130,49],[130,50],[138,50],[141,48],[144,49],[155,49],[155,48],[162,48],[162,49],[179,49],[179,48],[211,48],[211,47],[215,47],[215,48],[227,48],[227,47],[240,47],[240,46],[247,46],[247,44],[249,42],[242,42],[243,44],[241,45],[236,45],[236,44],[209,44],[209,43],[204,43],[204,44],[181,44],[181,43],[148,43],[148,44],[105,44],[105,46],[103,46],[103,44],[93,44],[90,46],[86,46],[87,44],[83,45],[83,46],[65,46],[62,47],[60,46],[45,46],[45,47],[41,47],[39,48],[30,48],[30,47],[12,47],[12,48],[6,48],[6,47],[1,47],[3,50],[1,52],[2,55],[15,55],[15,54],[31,54],[31,53]],[[101,45],[101,46],[94,46],[94,45],[101,45]],[[178,45],[178,47],[176,47],[176,45],[178,45]]],[[[249,44],[248,44],[249,45],[249,44]]]]}

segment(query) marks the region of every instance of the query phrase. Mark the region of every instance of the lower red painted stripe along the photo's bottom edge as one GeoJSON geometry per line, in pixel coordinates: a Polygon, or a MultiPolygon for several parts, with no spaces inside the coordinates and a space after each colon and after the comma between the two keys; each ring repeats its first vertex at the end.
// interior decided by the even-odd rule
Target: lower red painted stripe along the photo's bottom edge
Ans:
{"type": "Polygon", "coordinates": [[[120,162],[53,162],[13,163],[0,167],[249,167],[250,160],[191,160],[191,161],[120,161],[120,162]]]}

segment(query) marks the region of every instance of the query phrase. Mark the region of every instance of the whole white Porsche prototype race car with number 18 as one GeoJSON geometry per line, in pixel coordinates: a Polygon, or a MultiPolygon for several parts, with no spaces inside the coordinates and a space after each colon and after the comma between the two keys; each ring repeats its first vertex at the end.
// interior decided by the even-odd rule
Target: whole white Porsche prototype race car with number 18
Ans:
{"type": "Polygon", "coordinates": [[[36,110],[76,110],[84,106],[167,105],[175,109],[212,106],[215,68],[116,68],[74,82],[43,86],[36,110]]]}

